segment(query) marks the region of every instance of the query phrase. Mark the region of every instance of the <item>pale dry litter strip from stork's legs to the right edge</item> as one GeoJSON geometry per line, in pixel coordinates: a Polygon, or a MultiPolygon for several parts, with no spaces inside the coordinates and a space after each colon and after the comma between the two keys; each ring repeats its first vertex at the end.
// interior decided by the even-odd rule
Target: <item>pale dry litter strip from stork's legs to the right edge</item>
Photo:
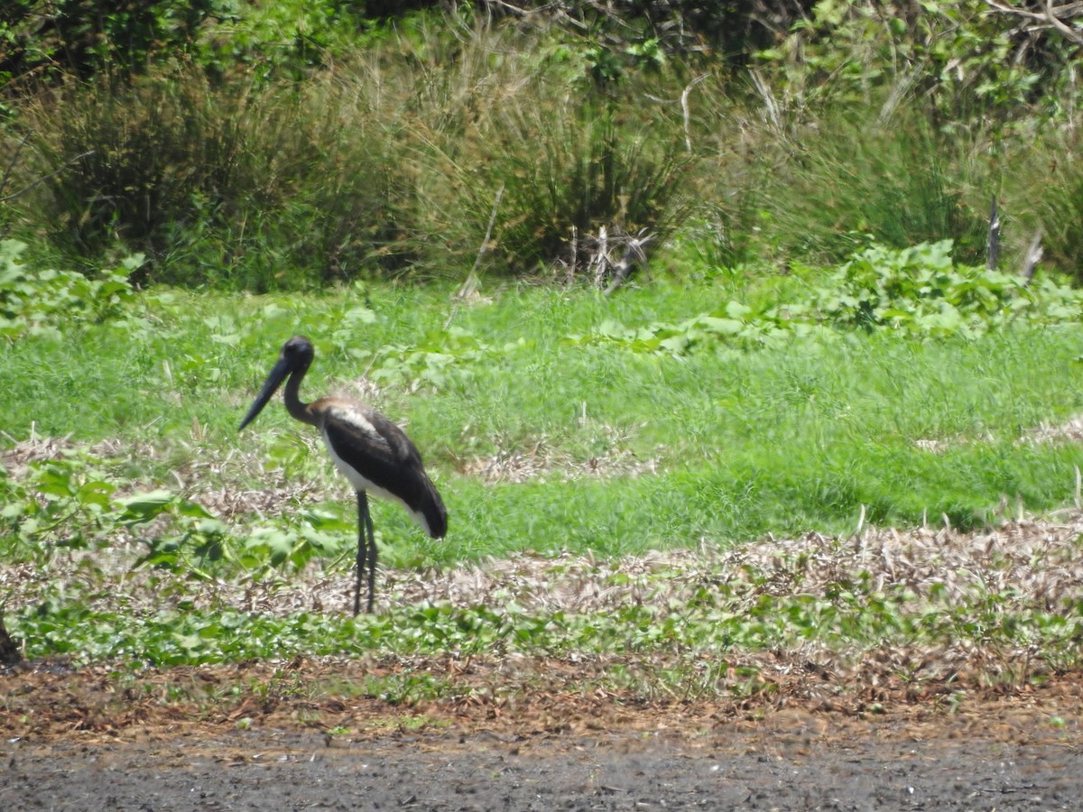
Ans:
{"type": "Polygon", "coordinates": [[[979,533],[928,527],[869,528],[849,538],[808,533],[723,549],[696,549],[599,560],[529,552],[447,571],[391,572],[397,601],[451,601],[460,606],[507,600],[536,612],[609,612],[653,603],[682,604],[703,587],[726,584],[754,601],[823,595],[865,579],[873,591],[904,586],[915,597],[962,602],[980,592],[1008,592],[1053,607],[1083,599],[1083,511],[1060,521],[1019,520],[979,533]]]}

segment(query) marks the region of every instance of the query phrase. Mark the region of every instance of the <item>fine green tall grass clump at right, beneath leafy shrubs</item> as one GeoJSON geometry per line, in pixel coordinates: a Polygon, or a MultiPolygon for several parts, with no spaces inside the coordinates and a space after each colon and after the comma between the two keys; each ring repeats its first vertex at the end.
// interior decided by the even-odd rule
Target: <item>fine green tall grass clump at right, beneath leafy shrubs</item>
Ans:
{"type": "Polygon", "coordinates": [[[984,252],[988,165],[969,136],[945,136],[915,107],[830,109],[783,136],[765,178],[769,240],[788,256],[837,262],[870,240],[905,248],[951,239],[984,252]]]}

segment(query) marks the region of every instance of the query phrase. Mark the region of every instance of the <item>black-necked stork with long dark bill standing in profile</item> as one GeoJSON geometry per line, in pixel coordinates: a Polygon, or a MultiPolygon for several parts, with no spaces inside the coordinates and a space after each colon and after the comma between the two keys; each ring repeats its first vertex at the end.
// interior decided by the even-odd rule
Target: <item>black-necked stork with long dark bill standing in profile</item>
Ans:
{"type": "Polygon", "coordinates": [[[357,582],[353,614],[361,611],[361,582],[368,571],[368,612],[373,611],[376,580],[376,538],[368,513],[367,494],[391,499],[406,508],[433,538],[447,532],[447,510],[425,472],[421,455],[405,432],[375,409],[349,397],[321,397],[302,403],[301,381],[312,364],[312,342],[295,336],[282,348],[278,363],[268,376],[240,429],[256,419],[286,381],[286,410],[301,422],[319,429],[335,466],[357,492],[357,582]]]}

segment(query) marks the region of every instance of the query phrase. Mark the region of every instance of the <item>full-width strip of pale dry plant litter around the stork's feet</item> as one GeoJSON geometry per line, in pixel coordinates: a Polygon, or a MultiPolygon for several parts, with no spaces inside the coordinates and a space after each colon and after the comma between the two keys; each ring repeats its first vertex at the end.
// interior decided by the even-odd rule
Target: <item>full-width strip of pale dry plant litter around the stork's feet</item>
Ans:
{"type": "MultiPolygon", "coordinates": [[[[64,553],[48,568],[0,565],[9,608],[32,604],[41,590],[83,578],[90,558],[103,578],[96,608],[162,608],[164,575],[129,571],[143,552],[132,541],[105,551],[64,553]],[[102,556],[110,559],[102,567],[102,556]],[[113,587],[113,588],[110,588],[113,587]],[[112,606],[115,608],[116,606],[112,606]]],[[[196,608],[231,606],[288,615],[298,611],[348,613],[353,590],[351,560],[310,562],[302,571],[211,578],[183,599],[196,608]]],[[[986,594],[1012,606],[1056,611],[1083,601],[1083,510],[1053,520],[1017,520],[978,533],[943,528],[869,528],[848,538],[808,533],[795,539],[765,539],[734,548],[704,540],[695,549],[599,559],[591,554],[542,556],[522,552],[454,568],[384,569],[380,612],[427,602],[459,607],[510,604],[527,613],[613,612],[629,605],[688,605],[702,590],[725,588],[738,611],[762,595],[824,597],[862,585],[882,592],[903,588],[919,611],[931,599],[964,604],[986,594]]]]}

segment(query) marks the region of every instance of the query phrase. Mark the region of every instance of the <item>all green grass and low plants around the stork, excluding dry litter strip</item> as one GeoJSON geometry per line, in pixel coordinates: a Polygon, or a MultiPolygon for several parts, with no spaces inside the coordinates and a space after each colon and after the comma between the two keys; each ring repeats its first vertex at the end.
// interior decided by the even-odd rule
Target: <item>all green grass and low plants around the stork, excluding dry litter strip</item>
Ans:
{"type": "MultiPolygon", "coordinates": [[[[887,329],[827,331],[740,349],[702,342],[674,355],[571,337],[605,319],[680,322],[734,298],[755,301],[762,290],[660,280],[605,298],[506,286],[455,309],[445,329],[453,290],[159,292],[127,305],[126,318],[18,338],[0,355],[4,442],[63,436],[81,449],[0,476],[3,563],[30,562],[45,581],[31,590],[34,602],[8,606],[28,651],[159,665],[362,651],[658,645],[694,654],[799,645],[808,636],[860,649],[978,628],[977,605],[938,610],[939,625],[928,627],[925,615],[908,614],[903,592],[884,605],[877,593],[815,606],[780,598],[751,619],[744,599],[727,602],[725,592],[694,607],[606,618],[419,605],[355,624],[334,614],[261,616],[229,602],[196,607],[206,585],[273,586],[309,565],[351,564],[353,500],[314,432],[277,403],[236,431],[295,332],[317,348],[302,395],[356,394],[351,387],[367,375],[378,387],[365,396],[408,427],[448,506],[449,534],[434,541],[402,510],[378,503],[386,565],[455,567],[523,550],[605,558],[702,541],[726,548],[809,531],[847,536],[862,516],[982,527],[1005,505],[1013,514],[1042,513],[1078,496],[1078,445],[1030,440],[1040,423],[1083,411],[1078,324],[925,340],[887,329]],[[109,445],[88,450],[102,441],[109,445]],[[534,475],[504,482],[470,473],[478,460],[514,454],[534,475]],[[586,473],[591,460],[598,474],[586,473]],[[208,493],[290,482],[314,489],[263,515],[219,521],[198,507],[208,493]],[[129,497],[141,492],[165,493],[140,507],[129,497]],[[170,519],[142,521],[159,514],[170,519]],[[156,556],[156,610],[126,614],[108,597],[116,587],[94,562],[118,545],[156,556]],[[52,582],[49,574],[79,550],[89,556],[82,576],[52,582]],[[704,606],[714,610],[704,615],[704,606]],[[668,631],[658,637],[657,628],[668,631]]],[[[1005,645],[1019,628],[1025,637],[1061,628],[1060,615],[1017,608],[1016,625],[995,632],[1005,645]]],[[[1057,633],[1074,634],[1069,626],[1057,633]]]]}

